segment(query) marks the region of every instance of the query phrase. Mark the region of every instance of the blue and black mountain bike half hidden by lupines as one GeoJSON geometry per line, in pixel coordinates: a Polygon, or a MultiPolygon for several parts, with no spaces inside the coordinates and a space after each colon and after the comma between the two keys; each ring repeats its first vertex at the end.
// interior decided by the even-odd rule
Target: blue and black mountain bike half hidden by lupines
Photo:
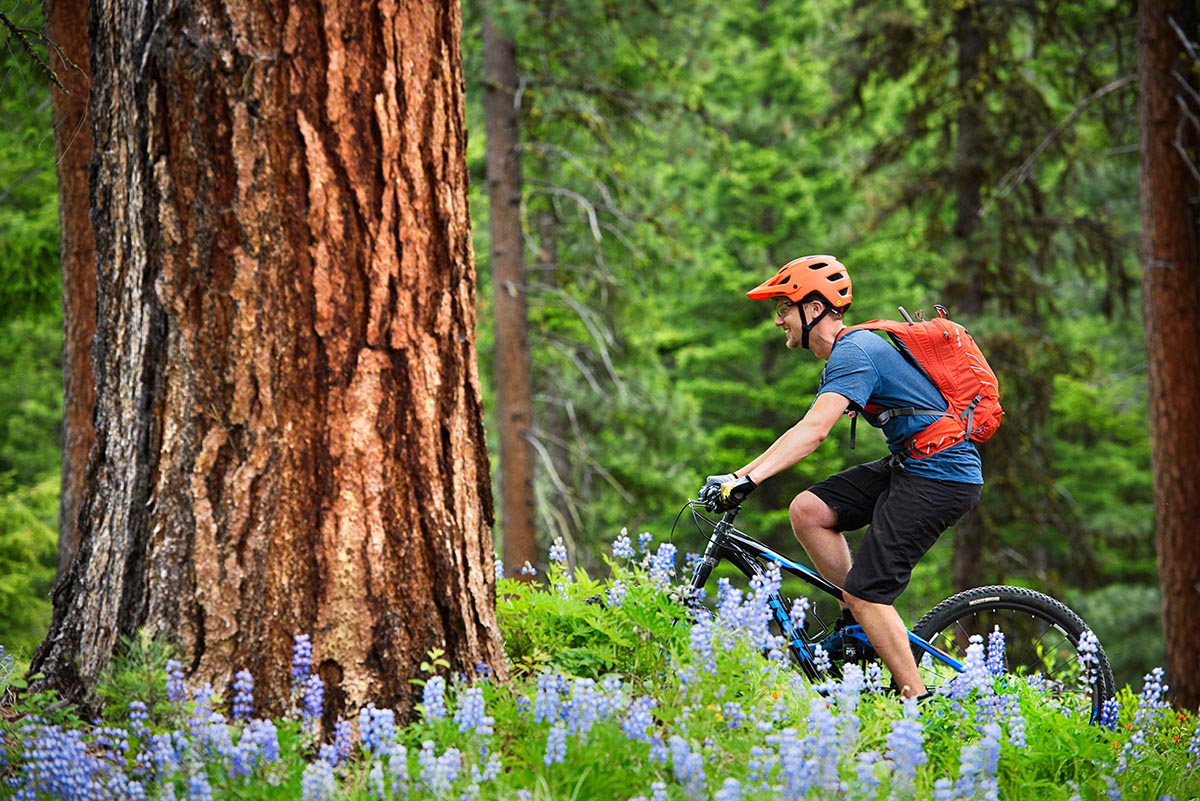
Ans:
{"type": "MultiPolygon", "coordinates": [[[[689,500],[680,516],[689,508],[697,531],[707,538],[691,577],[694,608],[702,608],[701,590],[722,561],[748,579],[763,576],[767,566],[774,564],[781,573],[794,576],[830,598],[842,600],[840,586],[734,528],[740,507],[715,518],[703,501],[689,500]]],[[[826,624],[814,613],[805,615],[803,626],[798,626],[781,592],[775,592],[768,604],[792,661],[812,681],[829,677],[830,673],[836,676],[839,666],[846,663],[864,669],[871,662],[883,667],[862,626],[838,627],[836,621],[826,624]],[[840,637],[830,640],[835,633],[840,637]],[[834,643],[833,650],[840,652],[828,654],[830,668],[824,669],[817,649],[828,652],[827,645],[834,643]]],[[[1004,676],[1039,682],[1072,712],[1086,712],[1093,722],[1099,719],[1104,701],[1116,692],[1104,649],[1094,636],[1085,644],[1088,628],[1066,604],[1019,586],[980,586],[959,592],[917,621],[908,631],[908,642],[926,689],[937,691],[955,681],[965,671],[972,636],[986,638],[996,628],[1004,636],[1004,676]]]]}

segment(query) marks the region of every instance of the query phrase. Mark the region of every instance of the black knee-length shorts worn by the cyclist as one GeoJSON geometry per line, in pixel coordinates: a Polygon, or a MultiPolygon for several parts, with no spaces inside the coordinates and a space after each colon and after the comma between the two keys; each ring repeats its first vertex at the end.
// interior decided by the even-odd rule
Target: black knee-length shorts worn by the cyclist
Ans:
{"type": "Polygon", "coordinates": [[[844,589],[890,604],[942,531],[979,501],[983,487],[913,476],[899,460],[884,457],[830,476],[809,492],[838,514],[838,531],[870,525],[844,589]]]}

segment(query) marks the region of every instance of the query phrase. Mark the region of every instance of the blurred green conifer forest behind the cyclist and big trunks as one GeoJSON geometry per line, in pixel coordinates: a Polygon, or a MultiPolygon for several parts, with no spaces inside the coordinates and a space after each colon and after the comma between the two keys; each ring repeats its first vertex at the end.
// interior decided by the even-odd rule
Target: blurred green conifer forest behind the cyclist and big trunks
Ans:
{"type": "MultiPolygon", "coordinates": [[[[1118,682],[1162,662],[1138,263],[1135,25],[1088,0],[464,4],[485,402],[497,299],[528,329],[534,530],[589,571],[798,420],[821,363],[744,293],[785,261],[850,269],[848,321],[949,307],[1001,377],[988,487],[899,607],[958,580],[1057,595],[1118,682]],[[485,40],[487,40],[485,42],[485,40]],[[493,287],[485,44],[515,67],[523,281],[493,287]],[[493,294],[493,290],[499,291],[493,294]],[[964,526],[960,526],[962,529],[964,526]],[[955,553],[959,556],[955,559],[955,553]],[[968,556],[965,559],[965,555],[968,556]]],[[[38,29],[40,7],[6,12],[38,29]]],[[[59,218],[48,82],[0,53],[0,644],[49,622],[61,450],[59,218]]],[[[511,354],[511,351],[508,351],[511,354]]],[[[500,464],[493,454],[499,507],[500,464]]],[[[883,451],[848,424],[739,518],[794,549],[787,502],[883,451]]],[[[497,522],[497,548],[503,520],[497,522]]],[[[700,547],[680,530],[686,552],[700,547]]]]}

